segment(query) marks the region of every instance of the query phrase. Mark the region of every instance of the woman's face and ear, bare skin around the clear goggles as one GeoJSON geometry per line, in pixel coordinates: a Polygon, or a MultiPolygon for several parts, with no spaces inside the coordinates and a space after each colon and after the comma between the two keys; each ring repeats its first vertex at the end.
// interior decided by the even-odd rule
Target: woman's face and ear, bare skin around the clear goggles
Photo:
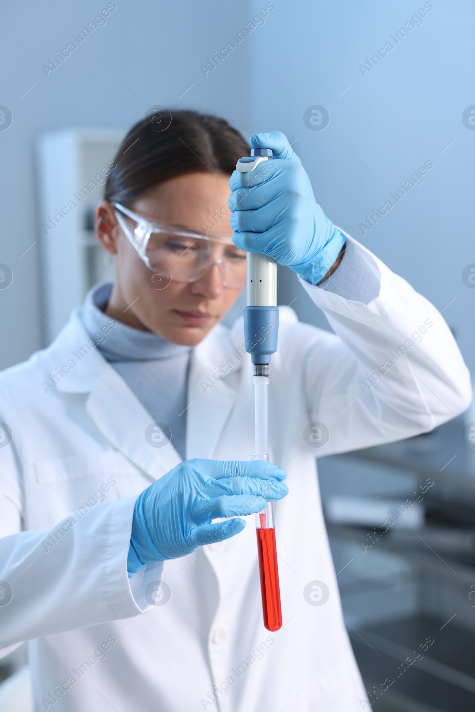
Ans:
{"type": "MultiPolygon", "coordinates": [[[[229,176],[189,173],[158,185],[130,209],[150,222],[199,231],[210,224],[217,211],[220,217],[225,215],[208,231],[209,236],[213,230],[232,236],[229,194],[229,176]]],[[[224,317],[241,292],[241,288],[223,286],[220,265],[212,266],[196,282],[172,279],[165,289],[154,288],[152,272],[132,248],[107,201],[98,205],[95,231],[103,247],[116,255],[115,284],[106,312],[127,325],[194,346],[224,317]]],[[[243,267],[245,271],[244,261],[243,267]]]]}

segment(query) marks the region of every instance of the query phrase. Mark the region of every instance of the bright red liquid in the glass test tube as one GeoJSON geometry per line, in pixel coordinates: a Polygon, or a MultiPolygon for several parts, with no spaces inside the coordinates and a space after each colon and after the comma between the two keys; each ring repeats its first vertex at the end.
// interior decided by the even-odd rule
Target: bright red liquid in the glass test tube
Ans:
{"type": "Polygon", "coordinates": [[[281,591],[278,585],[276,530],[266,528],[266,513],[259,513],[256,528],[264,626],[271,631],[282,627],[281,591]]]}

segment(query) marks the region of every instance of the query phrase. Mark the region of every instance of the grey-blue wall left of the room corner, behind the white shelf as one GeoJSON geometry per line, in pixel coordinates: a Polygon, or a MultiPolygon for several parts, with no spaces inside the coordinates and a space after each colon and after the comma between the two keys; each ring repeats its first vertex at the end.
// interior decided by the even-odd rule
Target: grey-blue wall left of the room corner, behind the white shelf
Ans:
{"type": "MultiPolygon", "coordinates": [[[[107,4],[48,0],[46,7],[26,0],[2,8],[0,56],[7,70],[0,105],[11,110],[14,122],[0,131],[0,263],[11,268],[14,281],[0,289],[0,368],[41,347],[38,244],[20,257],[37,239],[31,149],[39,134],[70,126],[127,129],[159,103],[216,112],[246,135],[251,130],[243,100],[249,89],[246,44],[206,78],[200,68],[249,21],[246,4],[118,0],[105,26],[46,77],[43,63],[107,4]]],[[[247,44],[253,42],[250,37],[247,44]]]]}

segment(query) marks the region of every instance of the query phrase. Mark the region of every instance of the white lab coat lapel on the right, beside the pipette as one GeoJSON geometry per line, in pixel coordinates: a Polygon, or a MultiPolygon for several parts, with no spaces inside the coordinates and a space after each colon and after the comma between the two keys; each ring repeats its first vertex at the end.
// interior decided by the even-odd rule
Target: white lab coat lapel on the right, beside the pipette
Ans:
{"type": "Polygon", "coordinates": [[[241,359],[244,362],[249,358],[242,353],[220,325],[195,347],[188,381],[187,459],[213,457],[238,397],[237,388],[229,382],[234,378],[236,385],[241,359]],[[216,371],[221,374],[219,379],[216,371]]]}

